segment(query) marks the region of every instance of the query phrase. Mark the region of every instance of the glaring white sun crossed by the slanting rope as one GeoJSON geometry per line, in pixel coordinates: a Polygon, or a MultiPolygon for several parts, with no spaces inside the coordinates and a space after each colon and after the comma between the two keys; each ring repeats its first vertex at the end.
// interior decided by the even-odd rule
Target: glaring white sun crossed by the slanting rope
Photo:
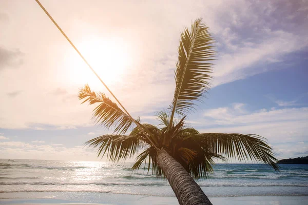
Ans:
{"type": "MultiPolygon", "coordinates": [[[[76,47],[107,85],[119,83],[131,64],[129,46],[122,38],[89,37],[76,44],[76,47]]],[[[101,87],[98,78],[76,52],[67,56],[66,64],[69,83],[89,83],[91,87],[101,87]]]]}

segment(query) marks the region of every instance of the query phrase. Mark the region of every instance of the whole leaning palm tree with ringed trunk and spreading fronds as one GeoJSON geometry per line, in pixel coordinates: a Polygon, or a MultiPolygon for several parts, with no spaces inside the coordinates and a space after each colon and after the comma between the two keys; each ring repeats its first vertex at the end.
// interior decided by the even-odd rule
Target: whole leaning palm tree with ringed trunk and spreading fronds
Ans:
{"type": "Polygon", "coordinates": [[[180,204],[211,204],[194,178],[207,177],[213,171],[214,159],[256,160],[278,170],[277,159],[261,136],[199,133],[185,124],[185,114],[209,89],[213,65],[210,62],[216,55],[213,37],[202,19],[181,33],[178,52],[174,99],[168,110],[157,113],[158,126],[142,124],[104,93],[92,92],[88,85],[80,89],[83,103],[98,104],[93,111],[96,121],[114,128],[113,134],[91,139],[86,145],[113,162],[138,154],[132,169],[138,170],[147,161],[148,171],[152,168],[152,174],[167,178],[180,204]]]}

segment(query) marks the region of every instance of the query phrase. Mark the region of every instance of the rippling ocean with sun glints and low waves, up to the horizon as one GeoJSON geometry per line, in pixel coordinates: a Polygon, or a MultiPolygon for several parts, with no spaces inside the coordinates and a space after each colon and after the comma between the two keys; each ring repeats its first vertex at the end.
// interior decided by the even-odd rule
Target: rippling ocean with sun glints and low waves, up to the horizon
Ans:
{"type": "MultiPolygon", "coordinates": [[[[166,179],[132,163],[0,159],[0,198],[98,198],[101,193],[175,196],[166,179]]],[[[308,165],[217,164],[198,184],[208,197],[307,196],[308,165]]],[[[92,202],[95,202],[93,199],[92,202]]]]}

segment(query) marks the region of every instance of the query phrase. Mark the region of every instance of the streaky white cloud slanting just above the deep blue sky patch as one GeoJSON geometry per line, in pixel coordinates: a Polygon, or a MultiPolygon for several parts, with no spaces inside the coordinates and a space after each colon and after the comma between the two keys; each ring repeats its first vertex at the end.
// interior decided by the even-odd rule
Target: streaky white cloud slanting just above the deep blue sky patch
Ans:
{"type": "MultiPolygon", "coordinates": [[[[217,67],[214,72],[214,85],[229,83],[238,79],[244,79],[258,73],[269,70],[265,65],[280,61],[284,54],[301,50],[308,45],[308,38],[301,37],[286,31],[270,31],[259,44],[239,46],[233,52],[222,52],[220,54],[217,67]],[[249,68],[255,64],[263,64],[263,68],[256,66],[255,69],[249,68]]],[[[234,44],[230,44],[232,46],[234,44]]],[[[236,45],[236,44],[235,44],[236,45]]]]}

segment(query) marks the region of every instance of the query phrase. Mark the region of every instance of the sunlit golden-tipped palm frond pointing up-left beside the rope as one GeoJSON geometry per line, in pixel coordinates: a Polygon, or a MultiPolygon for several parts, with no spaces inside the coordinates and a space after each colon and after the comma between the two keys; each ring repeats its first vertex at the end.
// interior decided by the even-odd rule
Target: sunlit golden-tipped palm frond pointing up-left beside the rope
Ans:
{"type": "Polygon", "coordinates": [[[114,126],[114,133],[124,134],[132,125],[133,119],[124,113],[117,104],[113,103],[104,93],[92,92],[88,85],[79,91],[79,99],[85,99],[82,103],[89,101],[89,104],[100,103],[93,110],[93,117],[106,128],[114,126]]]}

